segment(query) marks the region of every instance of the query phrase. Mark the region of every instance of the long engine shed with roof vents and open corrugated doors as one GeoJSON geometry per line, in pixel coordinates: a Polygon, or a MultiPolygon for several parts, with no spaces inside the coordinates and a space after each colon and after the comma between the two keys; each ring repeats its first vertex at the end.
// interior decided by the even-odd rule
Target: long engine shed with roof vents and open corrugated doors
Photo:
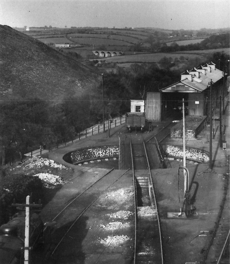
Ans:
{"type": "MultiPolygon", "coordinates": [[[[227,74],[225,74],[226,77],[227,74]]],[[[210,110],[210,88],[212,107],[219,105],[220,96],[227,94],[224,72],[218,70],[213,62],[186,70],[177,83],[160,89],[158,93],[147,93],[146,119],[162,120],[169,114],[181,116],[182,100],[185,101],[189,116],[208,116],[210,110]],[[211,84],[212,83],[212,84],[211,84]]]]}

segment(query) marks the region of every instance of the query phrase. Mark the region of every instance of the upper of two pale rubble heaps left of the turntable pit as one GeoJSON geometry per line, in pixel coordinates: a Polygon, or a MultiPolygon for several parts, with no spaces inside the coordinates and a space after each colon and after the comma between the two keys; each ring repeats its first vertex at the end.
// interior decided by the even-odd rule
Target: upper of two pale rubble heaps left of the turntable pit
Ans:
{"type": "Polygon", "coordinates": [[[24,168],[23,169],[41,168],[41,167],[43,167],[45,165],[49,166],[51,168],[67,169],[67,167],[65,167],[62,164],[56,163],[54,160],[50,160],[48,158],[41,158],[41,157],[34,157],[34,158],[28,159],[24,163],[24,168]]]}

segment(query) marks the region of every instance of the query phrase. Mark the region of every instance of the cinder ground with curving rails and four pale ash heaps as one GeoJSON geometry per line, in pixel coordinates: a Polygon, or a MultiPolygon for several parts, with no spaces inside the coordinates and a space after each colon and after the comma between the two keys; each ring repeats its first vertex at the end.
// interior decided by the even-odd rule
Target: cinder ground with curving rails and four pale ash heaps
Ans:
{"type": "Polygon", "coordinates": [[[53,219],[57,225],[46,263],[126,263],[131,259],[132,188],[128,170],[119,171],[119,175],[112,170],[66,202],[53,219]]]}

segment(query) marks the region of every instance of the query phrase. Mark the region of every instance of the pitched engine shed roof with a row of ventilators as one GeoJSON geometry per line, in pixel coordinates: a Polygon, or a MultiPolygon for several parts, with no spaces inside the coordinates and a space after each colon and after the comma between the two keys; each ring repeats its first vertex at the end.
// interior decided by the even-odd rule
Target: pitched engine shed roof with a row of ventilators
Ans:
{"type": "MultiPolygon", "coordinates": [[[[172,85],[169,85],[167,87],[164,87],[160,89],[162,92],[180,92],[180,93],[199,93],[203,92],[205,89],[207,89],[210,86],[210,81],[212,80],[213,83],[216,83],[223,77],[223,71],[218,69],[211,68],[210,72],[208,70],[205,70],[205,74],[200,72],[200,77],[196,77],[195,74],[193,74],[194,70],[201,70],[202,67],[209,67],[210,64],[205,64],[204,66],[200,66],[198,68],[193,68],[191,71],[185,71],[182,73],[182,75],[185,75],[185,79],[182,79],[181,81],[174,83],[172,85]],[[191,80],[186,77],[187,74],[193,75],[191,80]]],[[[212,63],[212,65],[215,65],[212,63]]]]}

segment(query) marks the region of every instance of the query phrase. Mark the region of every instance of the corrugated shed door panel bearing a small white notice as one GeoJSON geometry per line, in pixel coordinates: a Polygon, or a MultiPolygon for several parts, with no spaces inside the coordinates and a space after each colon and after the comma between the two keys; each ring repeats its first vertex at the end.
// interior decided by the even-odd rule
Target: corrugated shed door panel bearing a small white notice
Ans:
{"type": "Polygon", "coordinates": [[[204,116],[204,93],[189,93],[189,116],[204,116]]]}

